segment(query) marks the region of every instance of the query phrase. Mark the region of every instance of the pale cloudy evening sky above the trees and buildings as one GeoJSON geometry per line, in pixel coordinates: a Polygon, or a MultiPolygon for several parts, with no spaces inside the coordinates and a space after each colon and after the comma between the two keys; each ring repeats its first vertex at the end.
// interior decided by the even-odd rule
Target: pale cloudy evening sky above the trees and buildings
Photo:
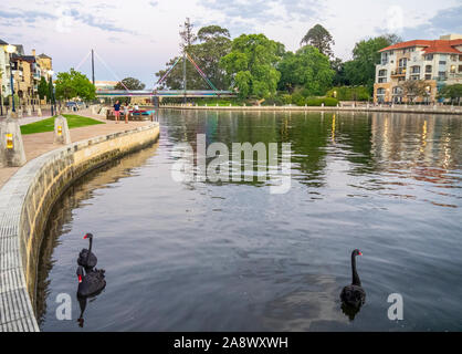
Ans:
{"type": "Polygon", "coordinates": [[[321,23],[344,60],[358,40],[381,33],[405,40],[462,33],[461,0],[1,0],[0,39],[49,54],[55,71],[78,66],[87,74],[83,60],[93,48],[96,80],[135,76],[153,86],[154,73],[179,52],[186,17],[196,29],[219,24],[233,38],[264,33],[287,50],[321,23]]]}

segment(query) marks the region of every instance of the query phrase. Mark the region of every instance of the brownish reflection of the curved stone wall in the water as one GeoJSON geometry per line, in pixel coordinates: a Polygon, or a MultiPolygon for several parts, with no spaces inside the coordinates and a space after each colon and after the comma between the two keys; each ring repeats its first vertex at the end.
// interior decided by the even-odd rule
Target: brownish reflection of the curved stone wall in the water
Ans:
{"type": "MultiPolygon", "coordinates": [[[[143,166],[157,150],[158,144],[120,159],[109,162],[103,167],[88,173],[75,181],[56,201],[50,212],[43,240],[39,252],[35,314],[41,325],[46,314],[46,298],[50,294],[50,271],[56,262],[53,251],[60,244],[60,237],[70,232],[73,209],[80,208],[83,202],[94,198],[94,191],[101,188],[111,188],[120,178],[134,176],[134,168],[143,166]]],[[[75,264],[76,267],[76,264],[75,264]]]]}

